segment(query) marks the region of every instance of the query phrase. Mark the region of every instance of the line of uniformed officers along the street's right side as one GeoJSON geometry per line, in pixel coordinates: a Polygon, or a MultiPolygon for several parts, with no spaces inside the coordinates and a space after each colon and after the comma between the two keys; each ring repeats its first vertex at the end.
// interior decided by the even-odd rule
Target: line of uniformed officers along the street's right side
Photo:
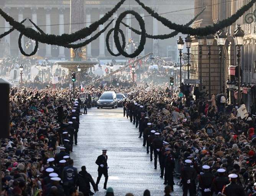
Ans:
{"type": "MultiPolygon", "coordinates": [[[[144,106],[136,103],[134,100],[125,99],[123,105],[123,116],[130,117],[136,127],[139,126],[139,138],[143,134],[143,146],[146,146],[146,153],[150,152],[150,161],[153,161],[154,153],[154,169],[157,169],[157,159],[161,169],[162,178],[164,176],[164,184],[170,185],[173,191],[175,169],[174,156],[169,143],[163,141],[161,133],[153,130],[149,117],[146,116],[144,106]],[[149,151],[150,148],[150,151],[149,151]]],[[[145,108],[146,109],[146,108],[145,108]]],[[[243,186],[237,183],[238,175],[230,174],[227,176],[225,169],[218,169],[216,174],[212,174],[210,166],[203,165],[200,174],[195,170],[197,165],[192,160],[186,159],[184,167],[181,169],[181,183],[183,185],[183,196],[196,195],[196,182],[199,183],[202,196],[212,196],[225,194],[226,196],[245,196],[243,186]],[[198,177],[198,178],[197,178],[198,177]]]]}

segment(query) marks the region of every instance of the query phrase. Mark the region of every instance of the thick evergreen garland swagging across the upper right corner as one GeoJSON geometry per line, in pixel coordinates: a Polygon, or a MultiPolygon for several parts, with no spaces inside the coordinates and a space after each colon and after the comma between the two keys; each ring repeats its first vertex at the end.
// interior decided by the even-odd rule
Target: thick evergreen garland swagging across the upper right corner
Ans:
{"type": "Polygon", "coordinates": [[[168,19],[159,16],[158,13],[155,13],[151,8],[145,6],[144,3],[141,3],[139,0],[135,0],[140,6],[142,6],[151,16],[156,18],[158,21],[162,22],[165,26],[173,29],[175,31],[181,32],[182,34],[187,35],[198,35],[198,36],[206,36],[210,34],[215,34],[217,31],[232,25],[238,18],[243,16],[243,14],[249,10],[256,2],[256,0],[251,0],[246,5],[242,6],[235,14],[233,14],[230,18],[224,19],[220,21],[218,24],[213,24],[213,26],[207,26],[204,28],[196,28],[193,29],[191,27],[185,27],[181,24],[172,23],[168,19]]]}

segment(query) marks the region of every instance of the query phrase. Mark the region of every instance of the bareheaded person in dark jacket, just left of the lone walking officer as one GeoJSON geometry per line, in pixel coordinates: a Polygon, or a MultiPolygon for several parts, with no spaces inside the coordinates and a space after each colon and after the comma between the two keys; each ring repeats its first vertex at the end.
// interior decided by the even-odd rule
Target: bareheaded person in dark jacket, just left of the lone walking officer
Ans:
{"type": "Polygon", "coordinates": [[[86,171],[86,167],[82,166],[81,169],[82,171],[78,173],[78,181],[77,181],[79,191],[81,191],[84,194],[84,196],[93,195],[94,193],[92,193],[92,191],[90,190],[90,183],[92,184],[92,187],[95,193],[97,190],[96,184],[92,176],[86,171]]]}

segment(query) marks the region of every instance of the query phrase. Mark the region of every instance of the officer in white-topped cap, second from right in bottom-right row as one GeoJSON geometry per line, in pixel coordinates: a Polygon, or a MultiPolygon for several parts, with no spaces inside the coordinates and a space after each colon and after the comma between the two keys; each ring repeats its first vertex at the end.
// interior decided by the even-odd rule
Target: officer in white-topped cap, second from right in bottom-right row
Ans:
{"type": "Polygon", "coordinates": [[[222,189],[225,185],[229,183],[228,178],[226,177],[226,170],[220,168],[217,170],[218,176],[215,177],[212,181],[212,193],[216,195],[222,192],[222,189]]]}

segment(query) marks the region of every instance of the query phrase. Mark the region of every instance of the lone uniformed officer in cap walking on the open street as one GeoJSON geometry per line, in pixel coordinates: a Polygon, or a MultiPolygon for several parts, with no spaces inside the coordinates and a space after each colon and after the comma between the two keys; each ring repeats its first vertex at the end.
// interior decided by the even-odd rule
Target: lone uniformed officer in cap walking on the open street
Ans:
{"type": "Polygon", "coordinates": [[[105,177],[105,182],[104,182],[104,186],[103,188],[105,190],[107,190],[107,182],[108,182],[108,156],[107,154],[107,150],[103,149],[102,150],[102,155],[98,156],[97,160],[96,160],[96,164],[98,165],[98,178],[97,178],[97,182],[96,182],[96,187],[97,187],[97,191],[98,191],[98,183],[100,183],[100,178],[102,177],[102,174],[105,177]]]}

